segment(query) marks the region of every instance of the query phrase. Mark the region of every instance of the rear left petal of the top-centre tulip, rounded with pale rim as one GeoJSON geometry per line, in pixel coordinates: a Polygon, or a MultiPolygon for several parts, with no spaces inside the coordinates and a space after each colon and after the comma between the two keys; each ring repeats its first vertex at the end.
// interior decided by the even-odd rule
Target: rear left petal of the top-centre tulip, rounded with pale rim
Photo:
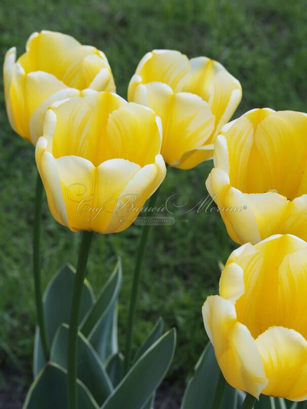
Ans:
{"type": "Polygon", "coordinates": [[[187,57],[179,51],[153,50],[141,59],[135,73],[142,77],[143,84],[165,83],[177,91],[189,69],[187,57]]]}

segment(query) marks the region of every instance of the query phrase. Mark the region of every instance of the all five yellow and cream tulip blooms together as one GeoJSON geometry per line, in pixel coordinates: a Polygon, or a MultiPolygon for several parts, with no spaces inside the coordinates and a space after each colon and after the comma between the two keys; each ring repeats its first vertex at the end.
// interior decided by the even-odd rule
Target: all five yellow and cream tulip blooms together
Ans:
{"type": "Polygon", "coordinates": [[[306,399],[307,114],[262,108],[228,122],[239,81],[173,50],[140,60],[127,102],[103,52],[51,31],[33,33],[17,61],[7,52],[4,87],[12,128],[35,146],[50,211],[72,231],[128,228],[138,215],[129,195],[141,209],[165,163],[187,170],[214,156],[206,186],[243,245],[203,306],[218,364],[255,397],[306,399]]]}

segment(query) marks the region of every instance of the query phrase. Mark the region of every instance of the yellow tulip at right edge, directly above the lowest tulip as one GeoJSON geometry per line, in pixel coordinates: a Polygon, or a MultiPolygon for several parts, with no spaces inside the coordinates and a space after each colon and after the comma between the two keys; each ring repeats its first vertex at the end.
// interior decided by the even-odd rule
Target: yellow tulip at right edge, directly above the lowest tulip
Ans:
{"type": "Polygon", "coordinates": [[[276,233],[307,240],[306,130],[307,114],[263,108],[217,136],[206,186],[236,242],[276,233]]]}

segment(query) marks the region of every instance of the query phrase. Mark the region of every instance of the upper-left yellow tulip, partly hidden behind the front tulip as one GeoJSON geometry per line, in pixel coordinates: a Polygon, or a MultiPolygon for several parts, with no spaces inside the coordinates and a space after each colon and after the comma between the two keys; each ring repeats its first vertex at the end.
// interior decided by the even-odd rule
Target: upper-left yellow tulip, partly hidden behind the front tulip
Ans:
{"type": "Polygon", "coordinates": [[[58,32],[31,34],[17,61],[16,48],[11,48],[3,71],[10,124],[33,145],[42,135],[46,110],[55,101],[83,95],[87,88],[115,91],[106,56],[58,32]]]}

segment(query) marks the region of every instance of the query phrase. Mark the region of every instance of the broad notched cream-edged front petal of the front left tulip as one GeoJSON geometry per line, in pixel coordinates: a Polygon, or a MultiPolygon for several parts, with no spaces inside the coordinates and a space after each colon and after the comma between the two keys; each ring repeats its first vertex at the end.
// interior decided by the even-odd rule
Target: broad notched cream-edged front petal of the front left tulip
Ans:
{"type": "Polygon", "coordinates": [[[95,168],[79,156],[63,156],[56,163],[70,229],[104,233],[122,191],[139,165],[111,159],[95,168]]]}

